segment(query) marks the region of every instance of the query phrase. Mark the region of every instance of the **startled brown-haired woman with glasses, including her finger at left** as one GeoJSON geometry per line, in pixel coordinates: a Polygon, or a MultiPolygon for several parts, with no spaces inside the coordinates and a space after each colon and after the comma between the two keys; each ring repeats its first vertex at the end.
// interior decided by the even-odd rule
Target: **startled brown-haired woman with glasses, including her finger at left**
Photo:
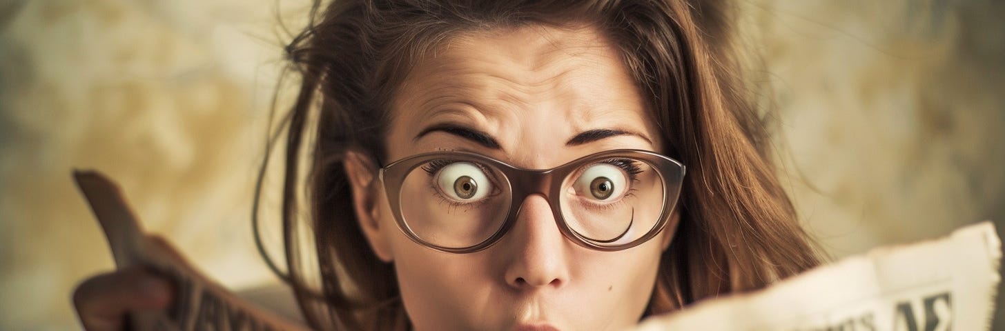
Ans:
{"type": "MultiPolygon", "coordinates": [[[[313,17],[287,48],[283,218],[315,328],[618,329],[818,263],[717,3],[336,0],[313,17]]],[[[85,282],[85,327],[166,306],[165,284],[100,290],[150,279],[85,282]]]]}

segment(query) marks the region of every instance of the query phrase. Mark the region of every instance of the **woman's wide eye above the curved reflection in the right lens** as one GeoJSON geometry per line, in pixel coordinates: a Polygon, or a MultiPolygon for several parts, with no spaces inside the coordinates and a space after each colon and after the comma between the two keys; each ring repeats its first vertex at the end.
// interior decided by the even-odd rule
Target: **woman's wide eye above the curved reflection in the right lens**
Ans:
{"type": "Polygon", "coordinates": [[[635,160],[611,158],[584,168],[573,190],[578,197],[594,203],[620,201],[631,192],[632,182],[641,170],[635,160]]]}

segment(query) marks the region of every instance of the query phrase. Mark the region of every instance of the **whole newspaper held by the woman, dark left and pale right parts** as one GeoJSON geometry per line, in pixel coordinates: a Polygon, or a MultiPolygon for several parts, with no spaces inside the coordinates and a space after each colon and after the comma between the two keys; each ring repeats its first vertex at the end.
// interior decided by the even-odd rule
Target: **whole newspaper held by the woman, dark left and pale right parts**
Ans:
{"type": "MultiPolygon", "coordinates": [[[[132,316],[136,329],[307,329],[240,299],[153,243],[112,181],[93,172],[74,173],[74,180],[116,265],[151,268],[178,285],[169,310],[132,316]]],[[[984,222],[944,239],[876,249],[760,291],[698,302],[650,317],[635,330],[988,330],[1000,260],[994,226],[984,222]]]]}

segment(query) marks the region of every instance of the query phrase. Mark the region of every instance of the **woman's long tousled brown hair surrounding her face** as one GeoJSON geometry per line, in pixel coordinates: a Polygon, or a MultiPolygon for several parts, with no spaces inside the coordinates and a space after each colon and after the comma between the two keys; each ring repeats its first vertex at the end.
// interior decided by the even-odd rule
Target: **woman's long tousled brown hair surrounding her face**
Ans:
{"type": "Polygon", "coordinates": [[[427,50],[472,30],[585,23],[620,50],[668,155],[688,167],[676,238],[660,258],[648,313],[761,288],[818,264],[738,75],[722,1],[335,0],[320,9],[316,2],[311,23],[286,48],[301,85],[285,121],[282,204],[283,277],[313,327],[408,326],[393,266],[370,251],[355,220],[342,157],[353,148],[387,161],[396,87],[427,50]],[[311,222],[301,224],[298,156],[311,134],[311,222]],[[301,252],[305,225],[315,251],[301,252]],[[316,272],[304,265],[313,258],[316,272]],[[319,278],[320,294],[308,286],[319,278]]]}

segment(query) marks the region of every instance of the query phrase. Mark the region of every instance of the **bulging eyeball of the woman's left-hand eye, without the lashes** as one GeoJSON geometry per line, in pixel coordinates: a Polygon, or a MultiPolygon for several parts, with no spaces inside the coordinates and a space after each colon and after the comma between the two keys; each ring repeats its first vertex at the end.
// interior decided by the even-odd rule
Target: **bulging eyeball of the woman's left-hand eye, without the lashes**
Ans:
{"type": "Polygon", "coordinates": [[[446,198],[458,202],[475,202],[492,192],[485,173],[468,162],[454,162],[440,169],[436,188],[446,198]]]}

